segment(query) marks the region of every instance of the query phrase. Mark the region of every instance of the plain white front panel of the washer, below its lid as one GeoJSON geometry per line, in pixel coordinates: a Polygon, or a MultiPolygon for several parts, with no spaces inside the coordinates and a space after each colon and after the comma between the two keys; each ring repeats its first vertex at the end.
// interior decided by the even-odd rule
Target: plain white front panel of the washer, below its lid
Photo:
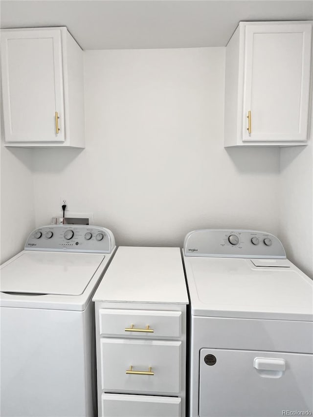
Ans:
{"type": "Polygon", "coordinates": [[[92,416],[93,311],[1,307],[1,416],[92,416]]]}

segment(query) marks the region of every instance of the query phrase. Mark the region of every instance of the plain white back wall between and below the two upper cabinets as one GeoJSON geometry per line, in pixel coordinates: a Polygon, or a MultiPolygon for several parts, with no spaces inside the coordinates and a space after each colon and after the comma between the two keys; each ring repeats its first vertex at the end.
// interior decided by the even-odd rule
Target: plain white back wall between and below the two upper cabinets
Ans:
{"type": "Polygon", "coordinates": [[[85,53],[86,149],[34,150],[36,225],[93,212],[119,245],[278,232],[278,149],[223,147],[225,48],[85,53]]]}

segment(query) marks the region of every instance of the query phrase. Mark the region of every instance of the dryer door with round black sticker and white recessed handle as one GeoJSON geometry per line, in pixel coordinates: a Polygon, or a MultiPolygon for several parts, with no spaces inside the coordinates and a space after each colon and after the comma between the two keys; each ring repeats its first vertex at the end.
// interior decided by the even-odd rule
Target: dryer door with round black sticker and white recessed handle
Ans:
{"type": "Polygon", "coordinates": [[[200,417],[310,415],[312,392],[313,355],[201,349],[200,417]]]}

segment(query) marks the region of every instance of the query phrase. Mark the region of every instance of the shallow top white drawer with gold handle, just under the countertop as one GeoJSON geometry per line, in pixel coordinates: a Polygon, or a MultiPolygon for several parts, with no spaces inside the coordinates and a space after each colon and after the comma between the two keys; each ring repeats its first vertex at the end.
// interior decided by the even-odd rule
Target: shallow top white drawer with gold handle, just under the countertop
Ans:
{"type": "Polygon", "coordinates": [[[181,311],[100,308],[99,327],[100,334],[114,336],[180,337],[181,311]]]}

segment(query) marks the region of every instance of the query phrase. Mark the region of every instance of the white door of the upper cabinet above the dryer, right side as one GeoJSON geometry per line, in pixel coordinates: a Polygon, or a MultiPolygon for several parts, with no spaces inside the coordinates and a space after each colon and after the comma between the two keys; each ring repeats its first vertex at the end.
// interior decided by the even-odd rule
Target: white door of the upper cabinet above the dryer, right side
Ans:
{"type": "Polygon", "coordinates": [[[244,141],[307,140],[311,37],[307,23],[246,26],[244,141]]]}

